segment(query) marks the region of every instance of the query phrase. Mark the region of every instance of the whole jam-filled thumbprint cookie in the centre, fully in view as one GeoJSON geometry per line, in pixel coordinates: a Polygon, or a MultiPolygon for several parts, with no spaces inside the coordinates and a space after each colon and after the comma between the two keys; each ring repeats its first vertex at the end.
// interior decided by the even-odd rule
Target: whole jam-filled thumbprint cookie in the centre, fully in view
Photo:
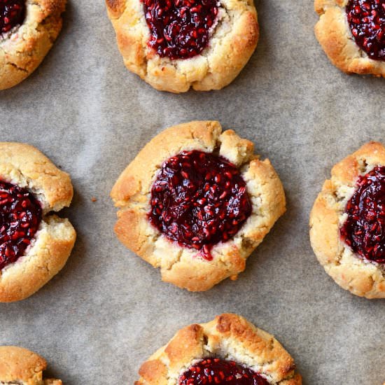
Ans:
{"type": "Polygon", "coordinates": [[[170,127],[116,181],[118,239],[191,291],[235,279],[285,211],[269,160],[216,121],[170,127]]]}

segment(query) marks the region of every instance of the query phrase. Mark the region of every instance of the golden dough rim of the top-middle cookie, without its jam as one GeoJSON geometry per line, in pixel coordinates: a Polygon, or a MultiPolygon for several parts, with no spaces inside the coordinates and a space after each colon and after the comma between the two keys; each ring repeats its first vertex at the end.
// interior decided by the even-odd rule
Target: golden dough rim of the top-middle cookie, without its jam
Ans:
{"type": "Polygon", "coordinates": [[[140,0],[106,0],[125,66],[157,90],[220,90],[234,80],[259,38],[253,0],[221,0],[209,46],[190,59],[170,60],[148,48],[150,30],[140,0]]]}

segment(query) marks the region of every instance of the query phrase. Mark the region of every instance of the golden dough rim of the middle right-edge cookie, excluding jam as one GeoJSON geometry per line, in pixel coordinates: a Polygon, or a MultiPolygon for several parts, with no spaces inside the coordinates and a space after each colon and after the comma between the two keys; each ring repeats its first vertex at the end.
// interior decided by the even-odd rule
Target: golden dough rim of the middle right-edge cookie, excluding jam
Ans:
{"type": "Polygon", "coordinates": [[[376,166],[385,165],[385,148],[370,142],[332,168],[310,214],[310,240],[318,261],[339,286],[355,295],[385,298],[384,267],[358,257],[339,237],[346,202],[356,181],[376,166]]]}

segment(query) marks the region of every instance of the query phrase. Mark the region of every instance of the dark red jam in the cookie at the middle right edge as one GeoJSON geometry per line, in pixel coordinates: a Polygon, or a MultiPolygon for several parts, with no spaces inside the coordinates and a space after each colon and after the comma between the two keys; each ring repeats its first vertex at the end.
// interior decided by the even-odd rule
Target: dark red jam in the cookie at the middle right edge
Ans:
{"type": "Polygon", "coordinates": [[[345,212],[342,240],[363,258],[385,263],[385,167],[360,176],[345,212]]]}

